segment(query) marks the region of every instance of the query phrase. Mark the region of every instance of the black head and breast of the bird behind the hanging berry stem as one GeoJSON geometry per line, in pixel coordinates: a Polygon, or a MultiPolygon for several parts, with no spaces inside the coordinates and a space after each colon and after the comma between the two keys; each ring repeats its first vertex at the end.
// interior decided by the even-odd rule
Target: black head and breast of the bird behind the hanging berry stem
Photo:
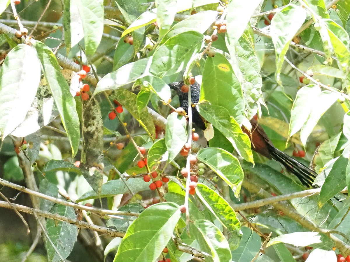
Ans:
{"type": "MultiPolygon", "coordinates": [[[[169,84],[169,87],[176,91],[176,94],[179,96],[180,107],[182,107],[186,114],[188,113],[188,93],[181,91],[181,87],[184,85],[183,81],[172,82],[169,84]]],[[[198,103],[200,95],[201,86],[198,82],[195,82],[191,85],[191,101],[192,103],[198,103]]],[[[193,122],[198,126],[198,128],[204,130],[205,124],[201,115],[198,113],[196,108],[192,109],[193,122]]]]}

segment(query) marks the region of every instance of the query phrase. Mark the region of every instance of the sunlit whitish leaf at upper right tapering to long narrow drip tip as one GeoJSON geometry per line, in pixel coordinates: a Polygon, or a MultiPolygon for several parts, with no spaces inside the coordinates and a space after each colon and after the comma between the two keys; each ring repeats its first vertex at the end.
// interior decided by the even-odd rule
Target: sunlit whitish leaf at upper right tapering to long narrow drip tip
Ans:
{"type": "Polygon", "coordinates": [[[281,85],[281,70],[285,55],[298,29],[306,19],[306,11],[300,6],[288,5],[276,13],[271,21],[270,32],[276,52],[276,80],[281,85]],[[293,23],[290,23],[293,21],[293,23]]]}

